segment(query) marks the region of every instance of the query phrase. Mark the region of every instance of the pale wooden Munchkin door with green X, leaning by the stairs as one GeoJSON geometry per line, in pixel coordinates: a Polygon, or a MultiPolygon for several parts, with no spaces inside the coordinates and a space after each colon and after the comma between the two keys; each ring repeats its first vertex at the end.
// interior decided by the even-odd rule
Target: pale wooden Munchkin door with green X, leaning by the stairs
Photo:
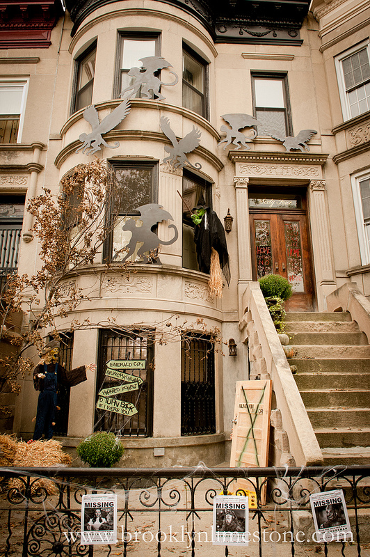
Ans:
{"type": "MultiPolygon", "coordinates": [[[[272,381],[269,379],[236,382],[230,467],[268,465],[271,395],[272,381]]],[[[252,480],[236,480],[232,489],[250,492],[252,488],[252,480]]],[[[266,483],[261,492],[262,504],[265,499],[266,483]]]]}

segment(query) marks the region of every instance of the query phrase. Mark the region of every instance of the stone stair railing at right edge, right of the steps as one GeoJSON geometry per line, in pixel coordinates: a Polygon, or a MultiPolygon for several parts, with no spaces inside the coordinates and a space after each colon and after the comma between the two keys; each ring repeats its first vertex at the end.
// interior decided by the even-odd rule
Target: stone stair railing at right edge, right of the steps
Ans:
{"type": "Polygon", "coordinates": [[[328,311],[349,311],[370,343],[370,301],[356,283],[345,283],[326,298],[328,311]]]}

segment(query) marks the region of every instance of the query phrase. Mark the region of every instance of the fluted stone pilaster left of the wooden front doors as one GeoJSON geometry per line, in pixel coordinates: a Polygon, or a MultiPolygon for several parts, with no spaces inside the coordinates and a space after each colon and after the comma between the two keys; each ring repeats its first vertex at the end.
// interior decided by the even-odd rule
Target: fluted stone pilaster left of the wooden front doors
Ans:
{"type": "MultiPolygon", "coordinates": [[[[248,207],[249,178],[234,177],[236,194],[236,226],[238,230],[239,305],[248,282],[252,281],[252,258],[250,253],[250,228],[248,207]]],[[[239,307],[239,317],[243,317],[244,308],[239,307]]]]}

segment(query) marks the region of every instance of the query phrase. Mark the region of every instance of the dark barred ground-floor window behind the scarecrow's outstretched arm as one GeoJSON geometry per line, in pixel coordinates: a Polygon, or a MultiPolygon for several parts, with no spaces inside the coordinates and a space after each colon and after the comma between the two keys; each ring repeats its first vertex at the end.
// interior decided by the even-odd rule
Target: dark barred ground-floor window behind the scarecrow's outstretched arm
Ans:
{"type": "MultiPolygon", "coordinates": [[[[72,369],[73,358],[73,333],[59,333],[61,343],[59,347],[58,362],[67,371],[72,369]]],[[[52,339],[50,339],[52,340],[52,339]]],[[[70,386],[58,384],[57,405],[59,410],[56,412],[56,424],[54,426],[54,435],[67,436],[68,434],[68,416],[70,414],[70,386]]]]}

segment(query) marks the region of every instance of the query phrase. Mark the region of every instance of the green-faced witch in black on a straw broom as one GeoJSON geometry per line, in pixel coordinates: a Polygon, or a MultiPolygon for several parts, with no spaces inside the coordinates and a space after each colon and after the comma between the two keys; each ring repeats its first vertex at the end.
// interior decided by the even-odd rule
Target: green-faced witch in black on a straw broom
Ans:
{"type": "Polygon", "coordinates": [[[209,274],[208,288],[212,297],[223,295],[223,278],[230,283],[229,253],[223,225],[216,212],[206,205],[201,196],[198,205],[193,207],[191,219],[195,224],[194,242],[197,251],[199,270],[209,274]]]}

